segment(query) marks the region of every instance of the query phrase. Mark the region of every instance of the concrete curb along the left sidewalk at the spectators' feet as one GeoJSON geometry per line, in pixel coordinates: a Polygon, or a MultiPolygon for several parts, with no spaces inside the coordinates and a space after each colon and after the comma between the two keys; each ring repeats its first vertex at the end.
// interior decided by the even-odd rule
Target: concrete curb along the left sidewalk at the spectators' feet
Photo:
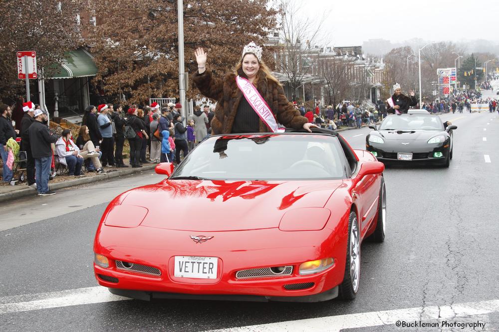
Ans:
{"type": "MultiPolygon", "coordinates": [[[[105,181],[105,180],[110,180],[113,178],[117,178],[120,176],[127,176],[135,173],[139,173],[142,171],[148,171],[151,169],[154,169],[156,167],[156,164],[152,165],[142,165],[142,168],[128,168],[120,171],[115,171],[111,173],[107,173],[105,175],[96,175],[92,176],[89,178],[81,178],[81,179],[74,179],[74,180],[69,180],[69,181],[64,181],[64,182],[58,182],[54,184],[49,184],[50,190],[59,190],[59,189],[64,189],[64,188],[69,188],[69,187],[75,187],[75,186],[81,186],[85,185],[87,183],[92,183],[96,181],[105,181]]],[[[19,190],[13,190],[7,193],[1,193],[0,194],[0,202],[6,202],[6,201],[11,201],[15,200],[18,198],[26,197],[26,196],[34,196],[36,193],[36,190],[32,188],[24,188],[24,189],[19,189],[19,190]]]]}

